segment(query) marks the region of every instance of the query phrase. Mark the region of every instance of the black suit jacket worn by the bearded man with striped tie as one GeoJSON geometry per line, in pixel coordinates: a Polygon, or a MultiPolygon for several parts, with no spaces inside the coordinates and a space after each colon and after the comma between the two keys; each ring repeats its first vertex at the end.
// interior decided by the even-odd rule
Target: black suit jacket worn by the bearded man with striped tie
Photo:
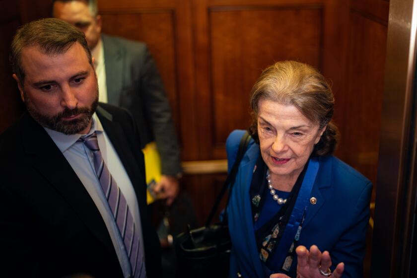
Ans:
{"type": "MultiPolygon", "coordinates": [[[[100,104],[97,115],[135,188],[147,276],[160,277],[136,125],[129,112],[111,105],[100,104]]],[[[26,113],[0,136],[0,276],[76,273],[123,277],[100,212],[54,141],[26,113]]]]}

